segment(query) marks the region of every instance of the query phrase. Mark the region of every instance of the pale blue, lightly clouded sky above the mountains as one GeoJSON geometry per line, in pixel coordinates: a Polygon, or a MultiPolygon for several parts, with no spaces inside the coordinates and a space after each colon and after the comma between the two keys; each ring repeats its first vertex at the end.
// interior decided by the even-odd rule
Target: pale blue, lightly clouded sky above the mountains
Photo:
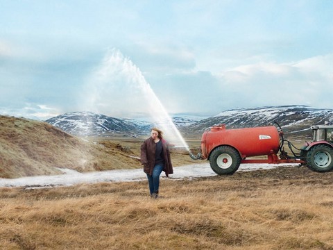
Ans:
{"type": "Polygon", "coordinates": [[[144,116],[142,81],[170,114],[333,108],[332,15],[330,0],[0,0],[0,114],[144,116]]]}

